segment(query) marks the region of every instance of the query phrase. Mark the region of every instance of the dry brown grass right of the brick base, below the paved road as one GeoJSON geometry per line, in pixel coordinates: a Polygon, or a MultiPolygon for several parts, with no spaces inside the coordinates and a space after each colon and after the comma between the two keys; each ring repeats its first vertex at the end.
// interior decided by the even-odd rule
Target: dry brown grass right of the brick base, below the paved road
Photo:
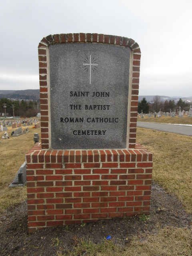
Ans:
{"type": "Polygon", "coordinates": [[[153,153],[152,178],[192,213],[192,137],[137,128],[136,140],[153,153]]]}

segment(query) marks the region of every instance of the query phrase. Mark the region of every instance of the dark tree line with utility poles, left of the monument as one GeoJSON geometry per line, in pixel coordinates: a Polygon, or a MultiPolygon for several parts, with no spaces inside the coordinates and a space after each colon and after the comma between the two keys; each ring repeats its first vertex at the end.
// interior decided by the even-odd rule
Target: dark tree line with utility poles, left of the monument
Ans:
{"type": "Polygon", "coordinates": [[[6,116],[22,116],[31,117],[36,116],[40,112],[40,105],[35,100],[10,100],[7,98],[0,99],[0,115],[2,113],[6,116]],[[6,108],[6,110],[5,110],[6,108]]]}

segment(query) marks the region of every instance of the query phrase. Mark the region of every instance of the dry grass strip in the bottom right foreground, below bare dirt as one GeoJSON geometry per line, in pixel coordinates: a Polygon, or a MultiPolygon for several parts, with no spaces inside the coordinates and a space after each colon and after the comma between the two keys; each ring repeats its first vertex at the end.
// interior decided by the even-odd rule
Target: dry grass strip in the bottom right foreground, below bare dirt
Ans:
{"type": "Polygon", "coordinates": [[[156,234],[132,236],[125,247],[114,245],[113,241],[94,244],[80,240],[71,252],[57,256],[191,256],[192,233],[185,228],[164,228],[156,234]]]}

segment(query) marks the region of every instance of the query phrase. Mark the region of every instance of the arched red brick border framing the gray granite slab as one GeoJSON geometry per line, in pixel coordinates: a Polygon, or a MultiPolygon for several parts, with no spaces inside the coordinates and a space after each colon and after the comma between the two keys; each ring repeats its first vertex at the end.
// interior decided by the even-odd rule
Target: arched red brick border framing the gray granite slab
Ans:
{"type": "MultiPolygon", "coordinates": [[[[104,34],[74,33],[74,34],[54,34],[44,37],[38,46],[39,57],[39,81],[40,81],[40,106],[41,106],[41,136],[42,149],[49,148],[49,128],[48,128],[48,48],[50,44],[63,44],[73,42],[90,42],[102,44],[114,44],[130,48],[132,59],[132,94],[130,104],[130,130],[128,148],[135,148],[136,143],[136,124],[138,107],[138,90],[140,75],[140,57],[139,45],[131,38],[121,36],[111,36],[104,34]]],[[[131,63],[130,63],[131,65],[131,63]]]]}

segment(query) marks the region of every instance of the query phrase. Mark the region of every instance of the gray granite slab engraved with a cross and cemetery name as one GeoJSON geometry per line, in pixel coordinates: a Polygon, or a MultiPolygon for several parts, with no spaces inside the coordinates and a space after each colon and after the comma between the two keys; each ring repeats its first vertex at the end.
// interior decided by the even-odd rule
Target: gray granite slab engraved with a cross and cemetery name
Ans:
{"type": "Polygon", "coordinates": [[[126,148],[130,49],[73,43],[49,50],[51,147],[126,148]]]}

